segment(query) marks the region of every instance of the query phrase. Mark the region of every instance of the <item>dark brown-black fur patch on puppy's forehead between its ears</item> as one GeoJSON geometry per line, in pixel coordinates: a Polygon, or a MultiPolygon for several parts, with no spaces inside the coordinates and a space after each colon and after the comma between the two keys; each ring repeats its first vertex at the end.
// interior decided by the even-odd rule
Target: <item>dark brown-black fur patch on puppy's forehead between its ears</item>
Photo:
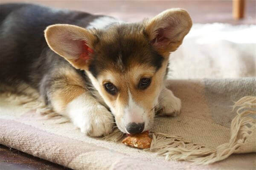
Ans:
{"type": "MultiPolygon", "coordinates": [[[[141,24],[123,24],[108,28],[113,37],[106,39],[104,31],[98,31],[99,41],[95,44],[95,54],[92,57],[89,71],[94,77],[108,68],[125,71],[132,63],[147,64],[157,71],[163,62],[163,56],[155,51],[143,31],[141,24]],[[138,37],[134,37],[134,33],[138,37]]],[[[107,32],[106,31],[106,32],[107,32]]]]}

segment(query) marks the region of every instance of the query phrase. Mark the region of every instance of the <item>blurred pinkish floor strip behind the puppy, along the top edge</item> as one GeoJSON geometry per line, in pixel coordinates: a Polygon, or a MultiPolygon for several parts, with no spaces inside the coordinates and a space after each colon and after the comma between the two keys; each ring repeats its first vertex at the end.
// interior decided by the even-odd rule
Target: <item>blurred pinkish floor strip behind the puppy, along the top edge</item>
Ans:
{"type": "Polygon", "coordinates": [[[168,8],[184,8],[191,15],[193,23],[255,24],[256,0],[244,0],[244,18],[241,20],[233,18],[233,1],[239,0],[1,0],[0,3],[37,3],[110,15],[128,22],[154,17],[168,8]]]}

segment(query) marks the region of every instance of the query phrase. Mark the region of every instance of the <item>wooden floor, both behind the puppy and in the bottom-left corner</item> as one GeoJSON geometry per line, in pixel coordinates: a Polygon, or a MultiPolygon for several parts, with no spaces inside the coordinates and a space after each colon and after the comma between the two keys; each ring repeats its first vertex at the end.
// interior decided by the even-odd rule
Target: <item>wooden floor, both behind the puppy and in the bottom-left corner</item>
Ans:
{"type": "MultiPolygon", "coordinates": [[[[23,0],[24,1],[24,0],[23,0]]],[[[1,0],[0,3],[22,2],[1,0]]],[[[26,0],[26,2],[29,2],[26,0]]],[[[176,1],[32,1],[46,6],[106,14],[128,22],[153,17],[167,8],[184,8],[194,23],[256,24],[255,0],[246,0],[245,17],[233,20],[231,0],[176,1]]],[[[0,145],[0,170],[69,170],[49,161],[0,145]]]]}

